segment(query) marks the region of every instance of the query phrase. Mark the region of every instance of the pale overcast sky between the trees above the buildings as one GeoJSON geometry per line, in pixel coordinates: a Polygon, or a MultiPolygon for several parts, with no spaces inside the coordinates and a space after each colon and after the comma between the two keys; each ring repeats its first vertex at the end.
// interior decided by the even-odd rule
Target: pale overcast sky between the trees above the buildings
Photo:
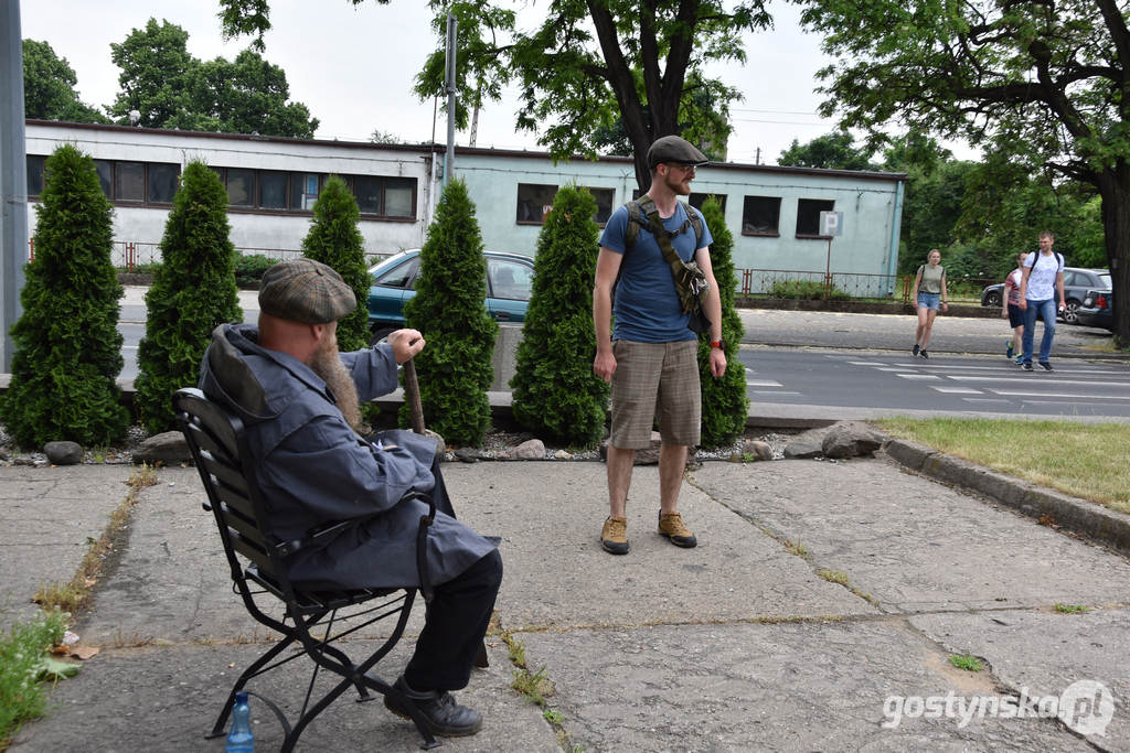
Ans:
{"type": "MultiPolygon", "coordinates": [[[[546,0],[519,0],[519,25],[531,28],[546,0]]],[[[304,103],[319,119],[318,139],[367,141],[374,130],[406,142],[446,139],[446,120],[433,100],[412,94],[416,73],[438,45],[432,14],[421,0],[382,6],[347,0],[271,0],[272,29],[263,56],[286,71],[290,100],[304,103]]],[[[746,35],[745,64],[718,67],[714,75],[745,97],[732,105],[734,126],[728,159],[775,164],[793,139],[805,143],[835,130],[816,113],[816,71],[827,64],[819,38],[799,28],[794,6],[771,0],[774,28],[746,35]]],[[[189,52],[200,60],[233,60],[250,37],[225,43],[217,0],[23,0],[23,37],[47,42],[78,77],[79,98],[110,105],[118,94],[120,69],[110,44],[121,42],[150,17],[166,19],[189,33],[189,52]],[[63,19],[66,19],[63,21],[63,19]]],[[[479,114],[476,146],[542,150],[537,135],[516,132],[515,93],[488,104],[479,114]]],[[[455,134],[469,143],[469,131],[455,134]]]]}

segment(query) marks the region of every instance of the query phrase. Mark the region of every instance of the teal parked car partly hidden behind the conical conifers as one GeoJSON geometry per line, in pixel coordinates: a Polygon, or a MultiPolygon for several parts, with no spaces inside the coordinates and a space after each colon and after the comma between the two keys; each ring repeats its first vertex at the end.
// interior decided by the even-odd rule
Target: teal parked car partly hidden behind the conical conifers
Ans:
{"type": "MultiPolygon", "coordinates": [[[[524,322],[533,289],[533,260],[488,251],[486,307],[497,322],[524,322]]],[[[394,254],[370,268],[368,329],[373,342],[405,326],[405,303],[416,295],[420,249],[394,254]]]]}

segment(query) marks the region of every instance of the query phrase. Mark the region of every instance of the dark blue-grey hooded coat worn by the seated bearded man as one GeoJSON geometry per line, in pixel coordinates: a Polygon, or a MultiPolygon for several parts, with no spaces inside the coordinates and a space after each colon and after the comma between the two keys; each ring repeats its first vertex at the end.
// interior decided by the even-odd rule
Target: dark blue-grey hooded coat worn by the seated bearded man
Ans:
{"type": "MultiPolygon", "coordinates": [[[[379,447],[346,423],[333,394],[296,358],[261,348],[252,325],[224,324],[205,353],[200,388],[243,420],[270,511],[269,531],[297,539],[339,520],[356,520],[319,548],[292,555],[292,578],[307,587],[418,586],[416,531],[427,506],[400,499],[428,491],[435,445],[408,431],[379,447]],[[374,514],[377,514],[374,516],[374,514]]],[[[342,353],[362,401],[397,387],[388,344],[342,353]]],[[[428,578],[451,580],[497,548],[451,515],[436,513],[428,534],[428,578]]]]}

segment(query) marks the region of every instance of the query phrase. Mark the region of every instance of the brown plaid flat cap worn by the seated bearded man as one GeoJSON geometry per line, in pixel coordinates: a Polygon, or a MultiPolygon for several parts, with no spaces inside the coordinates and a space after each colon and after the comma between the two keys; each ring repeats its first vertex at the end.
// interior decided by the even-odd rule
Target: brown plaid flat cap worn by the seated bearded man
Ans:
{"type": "Polygon", "coordinates": [[[295,259],[263,272],[259,310],[264,314],[303,324],[328,324],[355,308],[353,288],[321,262],[295,259]]]}

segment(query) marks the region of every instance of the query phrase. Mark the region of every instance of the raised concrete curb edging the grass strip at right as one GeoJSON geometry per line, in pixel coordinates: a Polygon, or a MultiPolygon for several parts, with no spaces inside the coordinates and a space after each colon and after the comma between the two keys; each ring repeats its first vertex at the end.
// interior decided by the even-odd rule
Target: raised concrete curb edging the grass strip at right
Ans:
{"type": "Polygon", "coordinates": [[[1096,502],[1044,489],[905,439],[892,439],[884,450],[916,473],[979,492],[1036,520],[1046,520],[1057,528],[1130,554],[1130,517],[1096,502]]]}

